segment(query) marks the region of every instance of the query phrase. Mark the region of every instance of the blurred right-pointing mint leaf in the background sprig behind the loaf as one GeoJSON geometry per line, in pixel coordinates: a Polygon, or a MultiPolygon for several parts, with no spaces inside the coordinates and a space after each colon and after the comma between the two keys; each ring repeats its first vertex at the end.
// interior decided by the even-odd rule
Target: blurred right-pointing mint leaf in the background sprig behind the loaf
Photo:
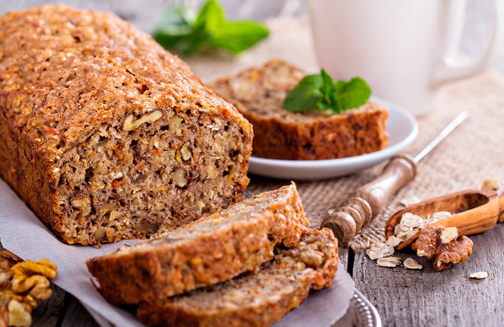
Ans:
{"type": "Polygon", "coordinates": [[[210,43],[216,48],[240,53],[267,38],[269,31],[253,22],[232,22],[214,27],[210,32],[210,43]]]}

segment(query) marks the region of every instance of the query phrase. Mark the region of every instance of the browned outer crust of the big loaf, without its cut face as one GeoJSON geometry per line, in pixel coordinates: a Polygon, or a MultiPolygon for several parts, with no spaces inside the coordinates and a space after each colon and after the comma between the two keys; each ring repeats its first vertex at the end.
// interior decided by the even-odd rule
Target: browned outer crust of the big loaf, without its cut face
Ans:
{"type": "Polygon", "coordinates": [[[109,235],[109,228],[101,238],[77,237],[67,226],[71,205],[56,195],[65,154],[107,124],[119,125],[123,139],[131,115],[193,111],[241,126],[241,169],[223,202],[241,198],[251,125],[147,33],[113,14],[45,5],[0,17],[0,54],[0,176],[62,241],[147,234],[109,235]]]}

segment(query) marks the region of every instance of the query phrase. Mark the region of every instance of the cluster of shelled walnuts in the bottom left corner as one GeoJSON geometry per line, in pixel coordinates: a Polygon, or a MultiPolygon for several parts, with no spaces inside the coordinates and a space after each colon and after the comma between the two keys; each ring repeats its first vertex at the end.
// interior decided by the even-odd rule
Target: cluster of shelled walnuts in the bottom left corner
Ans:
{"type": "Polygon", "coordinates": [[[22,261],[9,251],[0,254],[0,327],[30,326],[32,309],[52,295],[50,279],[57,267],[48,259],[22,261]]]}

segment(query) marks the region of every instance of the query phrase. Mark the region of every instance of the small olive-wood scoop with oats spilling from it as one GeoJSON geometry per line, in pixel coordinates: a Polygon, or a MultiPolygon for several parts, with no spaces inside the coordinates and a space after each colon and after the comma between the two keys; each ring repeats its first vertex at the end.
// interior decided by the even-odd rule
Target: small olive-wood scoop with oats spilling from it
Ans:
{"type": "MultiPolygon", "coordinates": [[[[495,226],[499,213],[504,212],[504,191],[465,190],[411,205],[390,217],[385,225],[385,238],[394,235],[394,229],[404,213],[411,212],[425,218],[439,211],[449,211],[452,216],[438,220],[432,225],[457,227],[459,236],[482,233],[495,226]]],[[[395,249],[411,246],[418,233],[410,235],[395,249]]]]}

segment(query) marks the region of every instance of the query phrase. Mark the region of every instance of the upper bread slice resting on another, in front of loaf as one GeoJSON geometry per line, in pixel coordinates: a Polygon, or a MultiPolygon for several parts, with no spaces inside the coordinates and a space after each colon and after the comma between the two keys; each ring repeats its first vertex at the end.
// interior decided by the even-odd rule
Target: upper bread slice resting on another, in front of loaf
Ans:
{"type": "Polygon", "coordinates": [[[308,231],[296,186],[239,202],[178,230],[87,261],[111,303],[138,303],[219,283],[294,247],[308,231]]]}

